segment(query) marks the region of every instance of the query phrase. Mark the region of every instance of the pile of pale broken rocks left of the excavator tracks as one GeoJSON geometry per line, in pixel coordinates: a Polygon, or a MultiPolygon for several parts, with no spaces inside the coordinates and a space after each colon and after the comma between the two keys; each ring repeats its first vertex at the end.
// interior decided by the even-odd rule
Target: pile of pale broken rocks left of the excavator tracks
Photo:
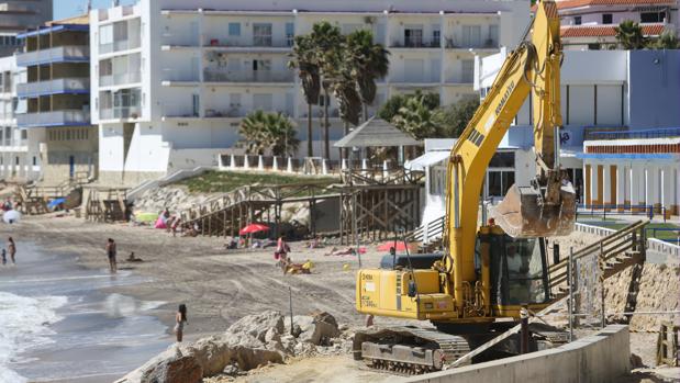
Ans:
{"type": "Polygon", "coordinates": [[[268,311],[239,319],[224,334],[171,346],[116,383],[192,383],[233,376],[291,357],[348,352],[350,337],[347,327],[338,326],[328,313],[294,316],[291,329],[289,317],[268,311]]]}

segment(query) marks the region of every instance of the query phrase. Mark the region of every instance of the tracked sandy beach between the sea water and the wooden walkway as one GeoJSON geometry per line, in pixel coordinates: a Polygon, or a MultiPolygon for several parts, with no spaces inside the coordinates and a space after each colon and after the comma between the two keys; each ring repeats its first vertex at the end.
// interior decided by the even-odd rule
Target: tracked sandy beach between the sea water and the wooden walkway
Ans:
{"type": "MultiPolygon", "coordinates": [[[[338,322],[363,323],[354,309],[356,257],[324,256],[331,246],[305,249],[304,243],[290,244],[296,261],[312,260],[311,275],[283,275],[275,267],[272,249],[225,250],[224,238],[172,237],[165,230],[131,227],[127,224],[97,224],[74,217],[30,216],[21,224],[3,226],[2,235],[30,240],[55,254],[78,257],[78,263],[105,270],[107,238],[118,243],[119,269],[144,277],[143,282],[109,290],[143,301],[167,302],[153,311],[170,331],[179,303],[189,307],[186,339],[224,330],[236,319],[265,309],[289,311],[289,288],[293,311],[332,313],[338,322]],[[9,229],[9,230],[8,230],[9,229]],[[144,262],[126,262],[134,251],[144,262]],[[349,270],[343,264],[349,263],[349,270]]],[[[21,257],[19,255],[18,257],[21,257]]],[[[369,247],[365,266],[377,266],[380,254],[369,247]]]]}

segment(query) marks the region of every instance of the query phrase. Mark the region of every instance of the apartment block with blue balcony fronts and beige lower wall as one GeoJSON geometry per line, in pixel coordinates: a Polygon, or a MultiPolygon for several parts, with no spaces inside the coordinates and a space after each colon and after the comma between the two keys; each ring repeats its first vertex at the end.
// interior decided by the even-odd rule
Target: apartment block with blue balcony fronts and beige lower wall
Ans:
{"type": "Polygon", "coordinates": [[[42,132],[42,181],[97,177],[98,135],[90,123],[89,18],[49,22],[19,35],[24,52],[16,65],[25,81],[16,95],[25,109],[16,114],[19,128],[42,132]]]}

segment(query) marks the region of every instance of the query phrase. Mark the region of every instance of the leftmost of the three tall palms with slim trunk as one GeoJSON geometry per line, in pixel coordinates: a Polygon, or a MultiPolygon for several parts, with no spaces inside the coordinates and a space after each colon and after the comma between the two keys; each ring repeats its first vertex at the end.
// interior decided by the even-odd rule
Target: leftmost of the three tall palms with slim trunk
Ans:
{"type": "Polygon", "coordinates": [[[321,93],[320,69],[315,57],[315,47],[308,35],[296,36],[292,49],[292,59],[288,66],[298,69],[302,82],[304,101],[306,101],[306,156],[313,157],[312,145],[312,105],[319,102],[321,93]]]}

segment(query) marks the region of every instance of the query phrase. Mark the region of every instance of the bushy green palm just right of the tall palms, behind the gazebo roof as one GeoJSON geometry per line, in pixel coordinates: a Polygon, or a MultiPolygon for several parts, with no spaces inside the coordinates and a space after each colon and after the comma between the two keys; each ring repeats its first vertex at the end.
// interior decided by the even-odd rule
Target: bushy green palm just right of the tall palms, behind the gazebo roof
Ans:
{"type": "Polygon", "coordinates": [[[400,131],[411,134],[417,139],[434,137],[438,132],[436,121],[441,121],[441,111],[431,109],[424,102],[424,97],[413,97],[406,100],[404,106],[392,119],[400,131]]]}

